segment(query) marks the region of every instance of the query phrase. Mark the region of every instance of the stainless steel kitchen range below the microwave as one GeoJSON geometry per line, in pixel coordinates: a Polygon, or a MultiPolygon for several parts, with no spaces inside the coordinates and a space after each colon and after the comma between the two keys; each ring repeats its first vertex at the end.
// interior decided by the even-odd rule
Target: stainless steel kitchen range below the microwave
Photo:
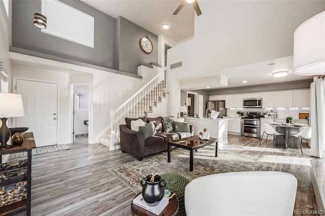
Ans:
{"type": "Polygon", "coordinates": [[[241,135],[250,137],[260,137],[261,118],[263,113],[261,112],[247,112],[241,119],[241,135]]]}

